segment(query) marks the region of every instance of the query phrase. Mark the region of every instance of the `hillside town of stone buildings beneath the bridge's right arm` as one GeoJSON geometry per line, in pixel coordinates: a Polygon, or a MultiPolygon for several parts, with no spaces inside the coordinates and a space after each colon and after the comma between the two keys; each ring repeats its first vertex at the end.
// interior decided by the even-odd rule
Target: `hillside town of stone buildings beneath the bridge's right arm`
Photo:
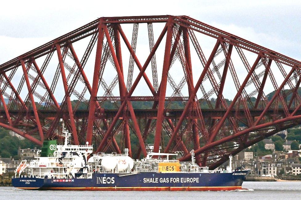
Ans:
{"type": "Polygon", "coordinates": [[[300,132],[300,127],[284,130],[241,151],[233,156],[233,168],[251,170],[249,176],[301,180],[299,141],[288,140],[299,139],[300,132]]]}

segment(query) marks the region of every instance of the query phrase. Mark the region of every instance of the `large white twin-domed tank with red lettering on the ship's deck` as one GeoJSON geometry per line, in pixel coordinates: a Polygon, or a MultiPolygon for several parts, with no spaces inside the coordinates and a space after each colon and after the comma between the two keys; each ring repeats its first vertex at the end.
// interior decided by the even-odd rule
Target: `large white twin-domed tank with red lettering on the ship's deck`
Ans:
{"type": "Polygon", "coordinates": [[[117,166],[118,172],[124,172],[128,167],[133,169],[134,161],[128,156],[105,156],[102,157],[101,165],[106,171],[112,171],[117,166]]]}

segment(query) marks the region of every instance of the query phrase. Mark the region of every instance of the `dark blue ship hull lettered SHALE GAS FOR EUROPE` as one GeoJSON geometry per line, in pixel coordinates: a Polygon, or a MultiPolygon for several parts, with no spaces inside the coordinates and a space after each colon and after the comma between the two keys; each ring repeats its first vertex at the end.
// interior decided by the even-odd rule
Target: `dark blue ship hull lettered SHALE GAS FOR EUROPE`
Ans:
{"type": "Polygon", "coordinates": [[[249,170],[233,173],[93,173],[92,178],[13,178],[20,189],[39,190],[237,190],[249,170]]]}

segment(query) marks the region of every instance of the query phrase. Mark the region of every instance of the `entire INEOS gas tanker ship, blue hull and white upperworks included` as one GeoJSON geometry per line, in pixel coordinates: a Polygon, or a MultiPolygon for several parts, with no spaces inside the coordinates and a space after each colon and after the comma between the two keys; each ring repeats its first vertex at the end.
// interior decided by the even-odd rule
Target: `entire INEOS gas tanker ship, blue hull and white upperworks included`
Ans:
{"type": "Polygon", "coordinates": [[[194,161],[180,162],[177,154],[149,153],[141,160],[124,154],[93,154],[93,145],[71,145],[63,131],[64,145],[44,141],[35,160],[22,161],[12,184],[31,190],[238,190],[249,170],[209,170],[194,161]]]}

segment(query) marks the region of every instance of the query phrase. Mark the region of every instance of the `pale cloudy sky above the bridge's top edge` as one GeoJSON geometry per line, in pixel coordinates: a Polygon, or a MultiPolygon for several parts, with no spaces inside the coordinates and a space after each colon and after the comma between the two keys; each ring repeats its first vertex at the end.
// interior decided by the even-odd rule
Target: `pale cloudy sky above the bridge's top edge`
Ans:
{"type": "MultiPolygon", "coordinates": [[[[300,1],[5,1],[0,64],[99,17],[188,15],[301,60],[300,1]]],[[[91,80],[92,81],[92,80],[91,80]]]]}

